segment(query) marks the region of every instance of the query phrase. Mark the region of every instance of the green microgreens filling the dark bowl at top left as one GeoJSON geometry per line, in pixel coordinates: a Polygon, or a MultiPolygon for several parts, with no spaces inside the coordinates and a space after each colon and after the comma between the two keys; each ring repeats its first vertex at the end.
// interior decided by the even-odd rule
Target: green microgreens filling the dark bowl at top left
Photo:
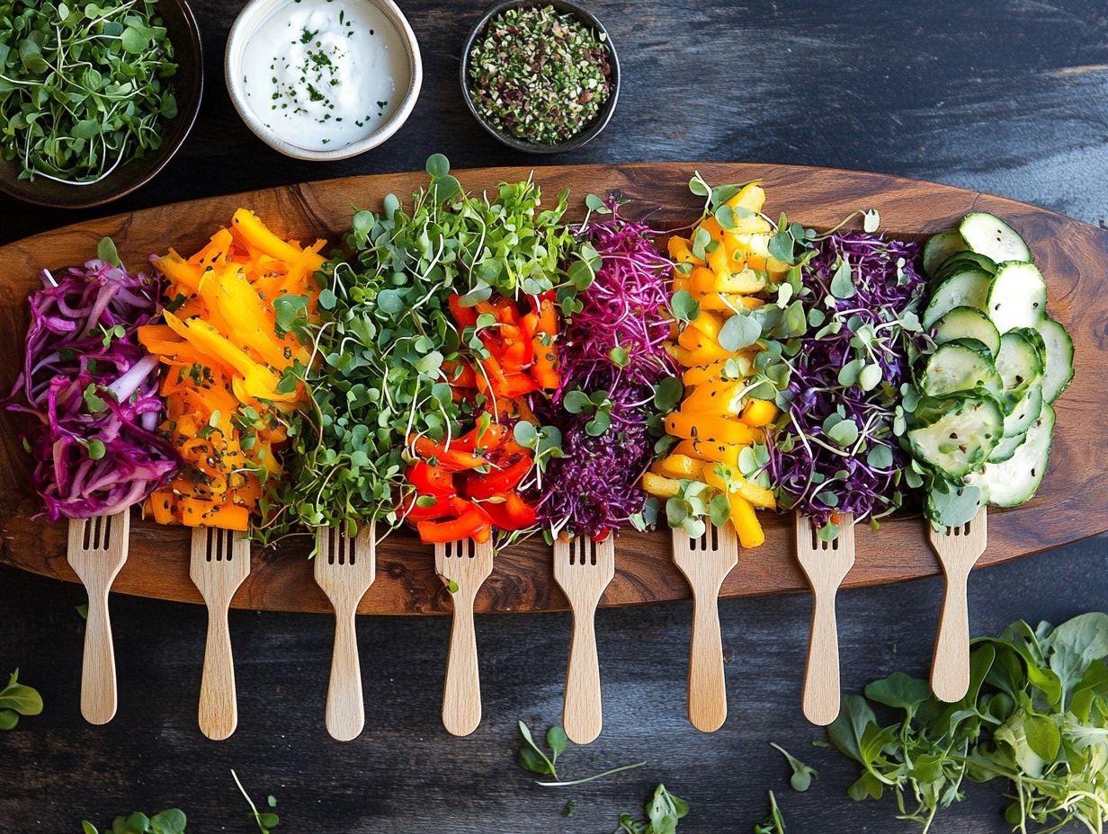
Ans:
{"type": "Polygon", "coordinates": [[[88,185],[158,148],[177,114],[173,58],[155,0],[0,6],[3,158],[20,179],[88,185]]]}

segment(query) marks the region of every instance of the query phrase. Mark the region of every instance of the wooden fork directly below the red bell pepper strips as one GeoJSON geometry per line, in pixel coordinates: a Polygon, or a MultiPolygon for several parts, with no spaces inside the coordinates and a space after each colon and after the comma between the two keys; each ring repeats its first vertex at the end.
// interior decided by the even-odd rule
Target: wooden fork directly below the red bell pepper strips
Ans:
{"type": "Polygon", "coordinates": [[[492,543],[472,539],[437,544],[434,569],[444,583],[454,583],[450,656],[442,694],[442,723],[454,735],[469,735],[481,723],[481,675],[473,630],[473,601],[492,573],[492,543]]]}

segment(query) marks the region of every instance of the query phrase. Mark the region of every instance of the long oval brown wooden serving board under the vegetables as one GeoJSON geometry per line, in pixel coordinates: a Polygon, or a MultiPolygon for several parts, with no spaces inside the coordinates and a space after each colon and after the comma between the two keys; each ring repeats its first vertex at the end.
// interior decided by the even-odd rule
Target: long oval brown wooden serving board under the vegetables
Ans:
{"type": "MultiPolygon", "coordinates": [[[[767,210],[787,210],[806,226],[829,228],[855,208],[876,208],[881,228],[919,238],[950,228],[971,210],[1004,217],[1024,235],[1049,285],[1051,313],[1069,328],[1076,344],[1077,377],[1057,403],[1050,471],[1038,496],[1010,511],[989,513],[989,547],[979,564],[989,565],[1038,553],[1108,531],[1108,474],[1100,456],[1108,451],[1108,234],[1053,212],[1001,197],[879,174],[787,165],[666,163],[542,167],[535,177],[550,200],[571,189],[571,218],[583,213],[588,193],[633,200],[625,212],[648,217],[655,228],[694,220],[699,200],[689,194],[698,168],[708,182],[761,179],[767,210]]],[[[470,189],[495,187],[526,177],[529,168],[455,172],[470,189]]],[[[0,390],[18,372],[28,323],[27,296],[39,286],[42,267],[59,268],[93,257],[96,243],[111,235],[124,262],[144,264],[151,253],[174,246],[198,247],[239,206],[255,209],[279,234],[338,241],[349,225],[350,206],[378,208],[392,192],[407,196],[425,182],[423,173],[350,177],[227,197],[178,203],[69,226],[0,248],[0,390]]],[[[0,412],[0,562],[69,581],[76,576],[65,562],[65,525],[33,522],[39,504],[27,487],[30,462],[19,432],[20,416],[0,412]]],[[[760,514],[766,545],[741,554],[724,584],[724,597],[807,589],[796,564],[791,516],[760,514]]],[[[199,603],[188,578],[189,532],[138,521],[131,526],[131,556],[114,589],[162,599],[199,603]]],[[[277,550],[254,550],[249,578],[235,596],[239,608],[329,611],[311,578],[307,536],[277,550]]],[[[899,581],[938,572],[920,517],[886,522],[879,533],[858,531],[858,560],[845,585],[899,581]]],[[[407,534],[378,548],[377,581],[362,600],[365,614],[443,614],[450,610],[435,576],[430,547],[407,534]]],[[[616,546],[616,576],[604,605],[636,605],[689,596],[673,565],[669,533],[625,533],[616,546]]],[[[538,611],[566,608],[553,581],[550,548],[541,540],[505,549],[478,597],[478,611],[538,611]]]]}

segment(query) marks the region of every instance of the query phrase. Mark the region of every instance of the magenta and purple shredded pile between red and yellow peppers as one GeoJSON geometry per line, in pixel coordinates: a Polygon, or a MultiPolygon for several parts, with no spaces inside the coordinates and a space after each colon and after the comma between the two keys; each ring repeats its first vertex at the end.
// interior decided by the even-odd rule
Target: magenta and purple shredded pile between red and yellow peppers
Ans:
{"type": "Polygon", "coordinates": [[[561,387],[538,408],[543,422],[562,432],[564,456],[547,464],[535,496],[537,518],[555,533],[594,539],[643,511],[648,496],[639,482],[661,431],[655,385],[676,375],[664,347],[673,321],[666,287],[673,264],[657,254],[649,227],[609,208],[609,217],[582,229],[601,265],[577,296],[582,309],[565,326],[561,387]],[[574,391],[606,393],[607,431],[589,433],[594,411],[564,409],[574,391]]]}

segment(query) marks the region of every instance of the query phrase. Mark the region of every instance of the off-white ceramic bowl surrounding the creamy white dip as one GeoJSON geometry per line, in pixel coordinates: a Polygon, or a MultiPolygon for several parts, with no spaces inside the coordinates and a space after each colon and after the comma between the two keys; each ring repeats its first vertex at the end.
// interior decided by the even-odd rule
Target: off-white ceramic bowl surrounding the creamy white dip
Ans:
{"type": "MultiPolygon", "coordinates": [[[[227,38],[227,51],[224,53],[224,76],[227,82],[227,92],[230,101],[238,111],[238,115],[246,122],[254,134],[276,151],[296,159],[310,159],[316,162],[328,162],[335,159],[346,159],[351,156],[362,154],[370,148],[377,147],[387,141],[393,133],[400,130],[401,125],[408,121],[419,97],[420,87],[423,84],[423,61],[420,58],[419,43],[416,33],[412,31],[408,19],[392,0],[352,0],[353,2],[366,2],[375,6],[384,18],[396,28],[399,41],[407,51],[409,83],[407,90],[403,89],[404,79],[397,79],[397,93],[401,95],[400,104],[389,114],[372,133],[356,140],[346,145],[334,148],[304,147],[284,138],[277,131],[267,127],[257,113],[246,101],[246,91],[243,89],[243,61],[250,41],[261,25],[273,16],[281,13],[286,7],[293,7],[297,0],[250,0],[235,18],[227,38]]],[[[326,0],[302,0],[305,4],[322,3],[326,0]]]]}

